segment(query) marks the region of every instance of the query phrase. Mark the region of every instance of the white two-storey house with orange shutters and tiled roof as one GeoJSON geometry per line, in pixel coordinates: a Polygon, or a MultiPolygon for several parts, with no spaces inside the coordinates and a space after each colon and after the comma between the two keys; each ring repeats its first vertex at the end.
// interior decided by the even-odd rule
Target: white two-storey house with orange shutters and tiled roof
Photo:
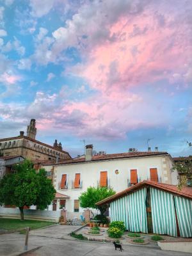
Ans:
{"type": "Polygon", "coordinates": [[[116,192],[143,180],[176,185],[173,159],[167,152],[127,152],[92,156],[92,145],[86,145],[85,157],[57,164],[44,164],[47,175],[62,198],[55,198],[49,210],[65,207],[67,218],[80,218],[79,196],[90,186],[108,186],[116,192]]]}

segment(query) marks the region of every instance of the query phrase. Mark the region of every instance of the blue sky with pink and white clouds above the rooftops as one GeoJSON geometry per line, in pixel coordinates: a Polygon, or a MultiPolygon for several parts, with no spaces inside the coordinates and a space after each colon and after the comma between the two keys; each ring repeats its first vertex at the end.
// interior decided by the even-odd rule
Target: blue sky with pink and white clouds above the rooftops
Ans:
{"type": "Polygon", "coordinates": [[[191,0],[0,0],[0,138],[192,154],[191,0]]]}

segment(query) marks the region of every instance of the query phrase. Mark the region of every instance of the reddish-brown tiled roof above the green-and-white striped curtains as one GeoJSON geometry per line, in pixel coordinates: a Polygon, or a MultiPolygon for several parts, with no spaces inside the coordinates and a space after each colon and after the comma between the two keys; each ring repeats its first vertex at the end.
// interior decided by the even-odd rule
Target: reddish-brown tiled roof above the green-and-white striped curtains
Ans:
{"type": "Polygon", "coordinates": [[[151,186],[153,188],[161,189],[170,193],[173,193],[175,195],[184,196],[186,198],[189,198],[192,200],[192,188],[184,187],[180,191],[177,186],[170,185],[170,184],[164,184],[164,183],[158,183],[154,181],[144,180],[143,182],[140,182],[134,186],[131,186],[130,188],[127,188],[119,193],[116,193],[113,196],[109,196],[108,198],[97,202],[97,205],[103,205],[108,204],[109,202],[112,202],[118,198],[121,198],[122,196],[125,196],[129,193],[132,193],[133,191],[136,191],[137,189],[143,188],[145,186],[151,186]]]}

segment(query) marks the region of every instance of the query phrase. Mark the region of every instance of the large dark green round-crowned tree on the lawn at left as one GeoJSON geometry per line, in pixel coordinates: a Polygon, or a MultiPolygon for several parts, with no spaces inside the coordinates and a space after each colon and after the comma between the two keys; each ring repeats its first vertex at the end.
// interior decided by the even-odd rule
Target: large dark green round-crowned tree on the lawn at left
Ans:
{"type": "Polygon", "coordinates": [[[37,205],[38,209],[45,209],[51,204],[56,191],[51,180],[47,179],[45,170],[36,173],[31,161],[16,164],[14,170],[14,173],[4,175],[0,180],[0,204],[19,207],[20,220],[24,220],[25,205],[37,205]]]}

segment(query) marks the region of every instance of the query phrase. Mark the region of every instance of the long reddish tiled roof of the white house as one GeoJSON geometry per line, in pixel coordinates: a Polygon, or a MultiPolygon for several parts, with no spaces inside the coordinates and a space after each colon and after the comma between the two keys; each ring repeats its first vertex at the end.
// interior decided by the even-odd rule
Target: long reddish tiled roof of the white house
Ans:
{"type": "MultiPolygon", "coordinates": [[[[146,156],[159,156],[159,155],[168,155],[168,153],[167,152],[127,152],[127,153],[118,153],[118,154],[103,154],[103,155],[93,156],[91,161],[103,161],[103,160],[111,160],[111,159],[124,159],[124,158],[132,158],[132,157],[146,157],[146,156]]],[[[75,164],[75,163],[83,163],[83,162],[86,162],[84,157],[69,159],[57,164],[75,164]]]]}

